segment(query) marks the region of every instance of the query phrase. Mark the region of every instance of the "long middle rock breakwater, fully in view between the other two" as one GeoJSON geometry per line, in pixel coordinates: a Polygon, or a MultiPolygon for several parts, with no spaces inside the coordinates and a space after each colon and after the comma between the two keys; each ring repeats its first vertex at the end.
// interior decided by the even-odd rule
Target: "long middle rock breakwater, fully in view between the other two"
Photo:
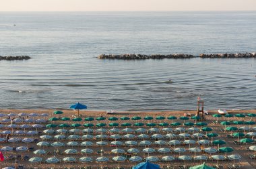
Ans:
{"type": "Polygon", "coordinates": [[[164,58],[194,58],[191,54],[100,54],[99,59],[122,59],[122,60],[139,60],[139,59],[164,59],[164,58]]]}

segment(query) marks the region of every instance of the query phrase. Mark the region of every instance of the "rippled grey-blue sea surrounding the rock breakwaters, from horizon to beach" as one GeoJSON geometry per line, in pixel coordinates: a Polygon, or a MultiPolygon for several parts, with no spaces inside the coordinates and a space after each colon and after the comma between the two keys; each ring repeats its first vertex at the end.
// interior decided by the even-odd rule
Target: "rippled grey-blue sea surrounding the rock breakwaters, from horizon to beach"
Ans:
{"type": "Polygon", "coordinates": [[[201,97],[207,109],[255,109],[254,58],[96,58],[255,52],[255,40],[256,11],[0,12],[0,55],[32,56],[0,61],[0,108],[177,110],[201,97]]]}

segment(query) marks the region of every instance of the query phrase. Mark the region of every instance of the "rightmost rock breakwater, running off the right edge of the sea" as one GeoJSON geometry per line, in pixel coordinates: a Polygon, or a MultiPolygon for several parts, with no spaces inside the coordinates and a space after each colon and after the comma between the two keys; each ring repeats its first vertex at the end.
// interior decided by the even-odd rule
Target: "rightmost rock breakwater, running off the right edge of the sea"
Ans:
{"type": "Polygon", "coordinates": [[[200,58],[256,58],[256,53],[245,54],[200,54],[200,58]]]}

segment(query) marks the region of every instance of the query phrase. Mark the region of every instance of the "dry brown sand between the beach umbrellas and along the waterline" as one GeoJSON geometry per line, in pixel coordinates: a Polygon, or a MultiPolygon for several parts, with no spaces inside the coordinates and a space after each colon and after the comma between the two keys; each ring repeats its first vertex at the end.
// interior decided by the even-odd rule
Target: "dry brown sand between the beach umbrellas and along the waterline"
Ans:
{"type": "MultiPolygon", "coordinates": [[[[47,118],[50,118],[50,117],[70,117],[72,118],[71,116],[72,115],[75,115],[77,113],[77,111],[71,111],[71,110],[61,110],[63,111],[64,113],[62,115],[53,115],[53,111],[55,110],[52,110],[52,109],[49,109],[49,110],[38,110],[38,109],[30,109],[30,110],[11,110],[11,109],[8,109],[8,110],[0,110],[0,113],[49,113],[49,117],[47,118]]],[[[177,117],[181,117],[183,116],[184,113],[191,113],[191,115],[194,115],[195,114],[195,111],[147,111],[147,112],[139,112],[139,111],[120,111],[120,112],[117,112],[113,115],[106,115],[106,112],[105,111],[80,111],[80,113],[82,114],[82,117],[100,117],[100,115],[106,117],[106,120],[105,121],[54,121],[54,122],[51,122],[51,123],[81,123],[81,124],[84,124],[84,123],[94,123],[94,125],[96,123],[113,123],[113,121],[108,121],[108,117],[123,117],[123,116],[127,116],[127,117],[133,117],[133,116],[140,116],[140,117],[146,117],[146,116],[152,116],[152,117],[156,117],[156,116],[164,116],[164,117],[168,117],[170,115],[174,115],[174,116],[177,116],[177,117]]],[[[208,111],[208,113],[210,113],[210,115],[206,115],[206,120],[205,122],[208,123],[208,127],[212,127],[214,129],[214,131],[212,132],[216,132],[219,134],[218,137],[214,138],[214,139],[223,139],[227,142],[226,145],[224,146],[229,146],[229,147],[232,147],[234,148],[234,152],[231,152],[229,154],[240,154],[243,159],[241,161],[238,161],[236,162],[236,164],[240,164],[241,166],[243,166],[243,168],[256,168],[256,160],[251,160],[249,158],[249,154],[253,154],[253,152],[249,152],[246,150],[246,147],[248,145],[236,145],[236,144],[233,144],[232,141],[236,140],[237,138],[228,138],[226,137],[226,135],[230,132],[226,132],[226,133],[222,133],[220,131],[220,129],[224,129],[224,126],[220,125],[220,124],[214,124],[213,121],[216,121],[216,118],[212,117],[212,114],[214,113],[217,113],[217,110],[212,110],[212,111],[208,111]]],[[[228,111],[228,113],[256,113],[256,110],[234,110],[234,111],[228,111]]],[[[224,121],[224,120],[227,120],[226,117],[220,117],[219,118],[219,121],[224,121]]],[[[235,121],[235,120],[243,120],[243,121],[249,121],[251,120],[251,117],[245,117],[245,118],[238,118],[238,117],[231,117],[230,118],[230,121],[235,121]]],[[[253,119],[255,121],[255,118],[253,119]]],[[[125,121],[125,122],[130,122],[130,123],[136,123],[136,122],[143,122],[143,123],[162,123],[162,122],[166,122],[166,123],[171,123],[170,120],[168,119],[164,119],[164,120],[151,120],[151,121],[145,121],[145,120],[139,120],[139,121],[132,121],[132,120],[129,120],[129,121],[125,121]]],[[[174,120],[174,121],[179,121],[181,123],[183,123],[183,120],[180,120],[180,119],[177,119],[177,120],[174,120]]],[[[189,119],[189,121],[193,122],[192,119],[189,119]]],[[[116,123],[124,123],[124,121],[121,121],[121,120],[118,120],[118,121],[115,121],[116,123]]],[[[187,122],[187,121],[186,121],[187,122]]],[[[237,125],[237,127],[239,127],[241,125],[237,125]]],[[[170,126],[172,127],[172,126],[170,126]]],[[[183,127],[183,126],[181,126],[183,127]]],[[[84,129],[85,127],[80,127],[81,129],[84,129]]],[[[96,127],[92,127],[93,129],[96,129],[96,127]]],[[[109,126],[106,126],[106,128],[110,129],[109,126]]],[[[112,127],[111,127],[112,128],[112,127]]],[[[117,127],[117,128],[121,128],[121,127],[117,127]]],[[[137,128],[137,127],[131,127],[131,128],[137,128]]],[[[146,129],[150,128],[150,127],[144,127],[146,129]]],[[[162,128],[162,127],[160,127],[162,128]]],[[[172,127],[174,128],[174,127],[172,127]]],[[[3,129],[0,129],[0,130],[3,130],[3,129]]],[[[162,131],[160,131],[160,133],[164,134],[162,131]]],[[[44,134],[41,134],[41,135],[44,135],[44,134]]],[[[79,133],[79,135],[82,135],[82,133],[79,133]]],[[[13,137],[11,135],[11,137],[13,137]]],[[[15,136],[17,137],[17,136],[15,136]]],[[[25,136],[22,136],[22,137],[28,137],[28,135],[25,135],[25,136]]],[[[41,141],[40,138],[39,138],[39,135],[36,135],[36,136],[29,136],[29,137],[34,137],[34,138],[38,138],[39,139],[39,142],[41,141]]],[[[110,141],[110,139],[108,140],[104,140],[106,142],[112,142],[113,140],[110,141]]],[[[123,141],[123,140],[121,140],[123,141]]],[[[166,140],[168,141],[168,140],[166,140]]],[[[50,142],[54,142],[54,141],[50,141],[50,142]]],[[[61,142],[64,142],[64,143],[67,143],[69,141],[67,140],[61,140],[61,142]]],[[[81,142],[84,142],[82,141],[81,139],[80,140],[77,140],[77,142],[81,143],[81,142]]],[[[96,142],[96,140],[92,140],[92,142],[96,142]]],[[[138,141],[140,142],[140,140],[138,141]]],[[[152,140],[152,142],[154,142],[154,140],[152,140]]],[[[255,144],[254,144],[255,145],[255,144]]],[[[26,146],[22,143],[16,143],[16,144],[11,144],[11,143],[1,143],[1,147],[3,146],[13,146],[13,147],[18,147],[18,146],[26,146]]],[[[34,147],[35,150],[38,150],[38,149],[42,149],[40,148],[39,146],[36,146],[36,144],[28,144],[28,147],[34,147]]],[[[163,147],[169,147],[170,146],[162,146],[163,147]]],[[[177,147],[182,147],[182,148],[188,148],[188,146],[177,146],[177,147]]],[[[197,147],[197,145],[194,145],[194,146],[191,146],[191,147],[197,147]]],[[[211,147],[211,146],[206,146],[206,147],[211,147]]],[[[68,149],[69,147],[64,147],[64,148],[60,148],[59,150],[61,152],[63,152],[64,150],[68,149]]],[[[89,147],[90,148],[90,147],[89,147]]],[[[101,148],[99,146],[92,146],[91,147],[94,152],[97,152],[99,151],[101,148]]],[[[123,148],[125,150],[129,149],[129,147],[125,147],[125,146],[121,146],[120,148],[123,148]]],[[[144,147],[141,147],[141,146],[135,146],[134,148],[138,148],[139,150],[142,150],[142,148],[144,147]]],[[[150,148],[159,148],[159,146],[150,146],[150,148]]],[[[76,150],[82,150],[84,149],[84,147],[75,147],[76,150]]],[[[110,147],[110,146],[104,146],[103,147],[104,149],[104,156],[110,158],[111,160],[111,157],[113,156],[118,156],[117,154],[111,154],[110,150],[113,150],[114,148],[113,147],[110,147]]],[[[173,149],[173,146],[171,147],[171,149],[173,149]]],[[[47,152],[51,152],[47,155],[42,155],[42,156],[39,156],[41,158],[43,158],[44,160],[46,158],[49,158],[49,157],[53,157],[53,148],[44,148],[44,150],[46,150],[47,152]]],[[[4,155],[9,155],[9,154],[15,154],[13,152],[7,152],[7,153],[4,153],[4,155]]],[[[20,153],[19,153],[20,154],[20,153]]],[[[32,152],[24,152],[22,153],[23,155],[26,154],[30,157],[34,157],[34,156],[38,156],[36,154],[33,154],[32,152]]],[[[201,155],[203,153],[197,153],[197,155],[201,155]]],[[[143,154],[143,153],[139,153],[137,154],[138,156],[141,156],[141,157],[146,157],[148,156],[148,154],[143,154]]],[[[179,154],[174,154],[174,153],[171,153],[171,154],[165,154],[165,156],[167,155],[170,155],[170,156],[179,156],[179,154]]],[[[181,155],[190,155],[192,156],[193,154],[190,154],[189,152],[186,152],[186,153],[183,153],[181,155]]],[[[204,154],[206,156],[210,156],[209,154],[204,154]]],[[[224,155],[224,154],[222,154],[224,155]]],[[[63,154],[63,155],[57,155],[56,157],[59,158],[59,159],[62,159],[64,157],[68,157],[68,156],[73,156],[75,157],[77,160],[79,160],[79,158],[81,158],[82,156],[86,156],[86,155],[82,155],[82,154],[76,154],[76,155],[67,155],[67,154],[63,154]]],[[[94,160],[96,157],[99,157],[100,154],[97,154],[97,153],[94,153],[94,154],[90,154],[88,155],[90,157],[92,157],[94,160]]],[[[150,156],[158,156],[159,158],[161,158],[163,156],[163,154],[150,154],[150,156]]],[[[167,162],[156,162],[157,164],[160,164],[160,166],[167,166],[167,162]]],[[[5,167],[5,166],[13,166],[14,164],[14,160],[5,160],[3,162],[0,162],[0,166],[1,167],[5,167]]],[[[51,168],[51,167],[54,167],[54,168],[64,168],[65,167],[73,167],[73,168],[78,168],[78,167],[86,167],[86,166],[92,166],[92,168],[97,168],[97,167],[100,167],[100,166],[108,166],[110,168],[113,168],[113,167],[117,167],[119,164],[117,162],[108,162],[108,163],[96,163],[96,162],[92,162],[92,163],[86,163],[86,164],[83,164],[82,162],[76,162],[76,163],[65,163],[65,162],[61,162],[61,164],[45,164],[45,163],[42,163],[42,164],[31,164],[29,162],[26,162],[26,161],[22,161],[22,160],[19,160],[19,164],[21,164],[22,166],[24,166],[25,168],[34,168],[34,167],[38,167],[38,168],[51,168]]],[[[134,166],[136,163],[135,162],[121,162],[121,166],[125,167],[125,168],[130,168],[131,166],[134,166]]],[[[174,162],[170,162],[170,166],[174,166],[175,168],[179,168],[178,166],[183,166],[183,162],[177,162],[177,161],[174,161],[174,162]]],[[[200,162],[186,162],[187,165],[189,166],[195,166],[197,164],[200,164],[200,162]]],[[[215,161],[207,161],[207,164],[208,165],[216,165],[216,162],[215,161]]],[[[227,168],[228,164],[232,164],[232,162],[226,162],[226,161],[223,161],[223,162],[220,162],[220,164],[222,164],[224,166],[224,168],[227,168]]]]}

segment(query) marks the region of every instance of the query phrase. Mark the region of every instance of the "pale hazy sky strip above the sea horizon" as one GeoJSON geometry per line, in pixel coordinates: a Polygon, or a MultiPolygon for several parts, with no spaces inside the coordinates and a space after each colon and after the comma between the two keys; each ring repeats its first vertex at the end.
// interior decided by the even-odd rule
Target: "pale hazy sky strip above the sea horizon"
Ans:
{"type": "Polygon", "coordinates": [[[256,0],[0,0],[0,11],[255,10],[256,0]]]}

